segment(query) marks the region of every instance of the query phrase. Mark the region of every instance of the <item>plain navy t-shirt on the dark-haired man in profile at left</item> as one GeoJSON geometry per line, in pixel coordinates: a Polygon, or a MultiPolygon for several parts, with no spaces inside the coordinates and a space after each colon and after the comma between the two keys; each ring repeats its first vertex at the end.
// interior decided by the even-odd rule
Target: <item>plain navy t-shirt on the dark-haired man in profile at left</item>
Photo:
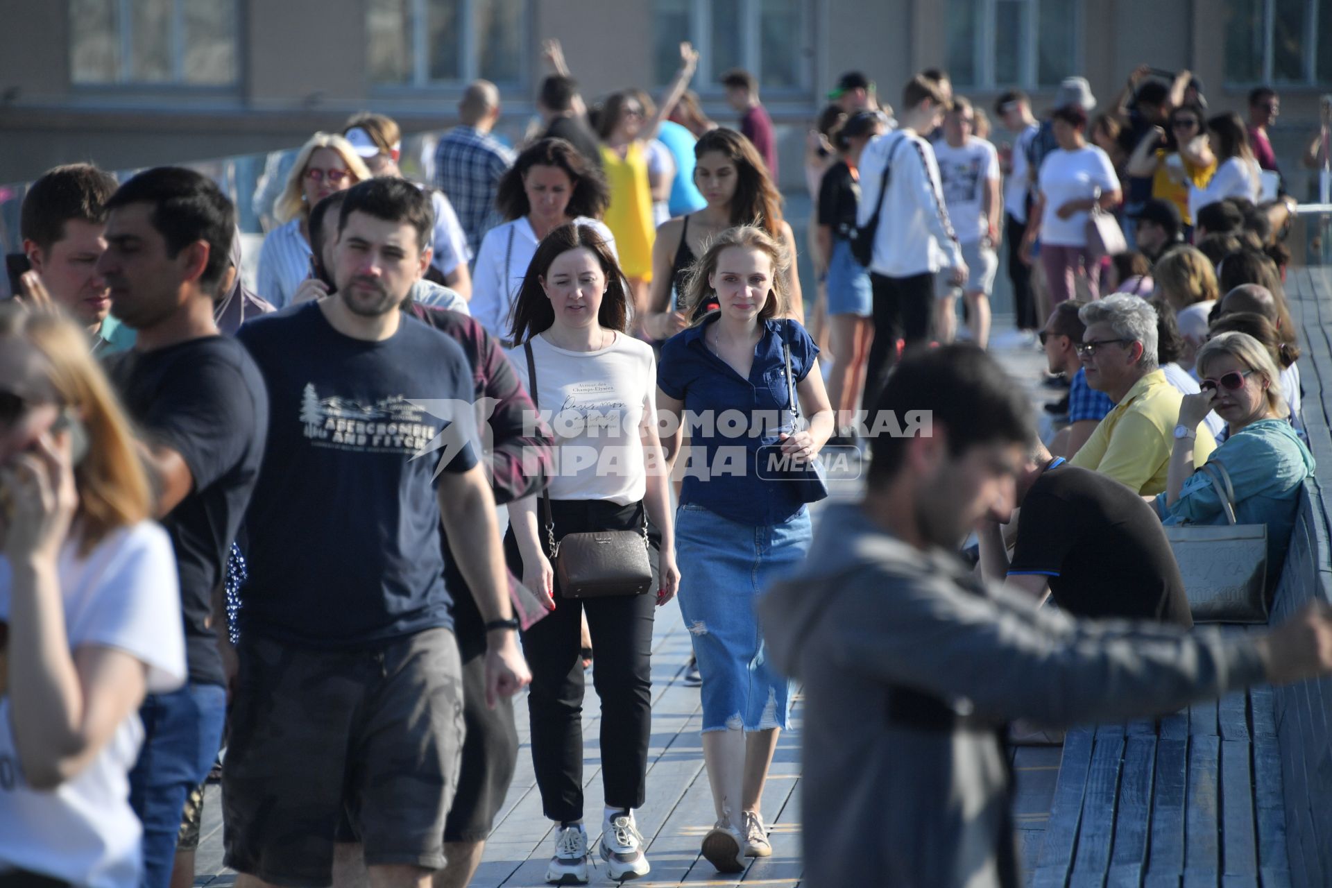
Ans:
{"type": "Polygon", "coordinates": [[[268,395],[258,367],[220,335],[123,351],[107,373],[144,435],[185,461],[194,486],[163,518],[180,571],[189,680],[222,684],[213,588],[258,478],[268,395]]]}

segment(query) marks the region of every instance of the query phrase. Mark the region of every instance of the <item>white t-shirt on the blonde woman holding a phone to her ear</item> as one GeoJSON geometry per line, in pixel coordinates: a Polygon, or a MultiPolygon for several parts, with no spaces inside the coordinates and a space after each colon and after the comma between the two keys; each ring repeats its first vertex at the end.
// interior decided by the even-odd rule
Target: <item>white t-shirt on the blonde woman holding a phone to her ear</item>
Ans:
{"type": "MultiPolygon", "coordinates": [[[[60,553],[69,650],[112,647],[148,666],[148,692],[185,680],[185,638],[170,539],[155,523],[109,534],[87,558],[60,553]]],[[[0,620],[9,618],[9,562],[0,558],[0,620]]],[[[12,679],[12,676],[11,676],[12,679]]],[[[9,696],[0,696],[0,871],[28,869],[76,885],[137,888],[139,819],[129,771],[144,742],[131,712],[97,756],[53,791],[27,785],[19,766],[9,696]]]]}

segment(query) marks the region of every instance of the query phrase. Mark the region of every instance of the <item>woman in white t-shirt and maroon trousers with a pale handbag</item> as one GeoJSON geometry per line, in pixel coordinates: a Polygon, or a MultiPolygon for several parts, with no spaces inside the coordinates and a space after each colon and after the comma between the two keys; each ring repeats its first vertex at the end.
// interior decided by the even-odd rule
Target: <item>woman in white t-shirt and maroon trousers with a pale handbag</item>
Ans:
{"type": "Polygon", "coordinates": [[[1054,308],[1074,296],[1079,277],[1096,297],[1100,265],[1087,257],[1087,220],[1092,206],[1116,206],[1122,194],[1114,162],[1100,148],[1087,144],[1087,112],[1079,105],[1060,108],[1051,116],[1051,124],[1059,150],[1046,154],[1040,164],[1031,209],[1040,226],[1027,226],[1022,256],[1028,264],[1032,261],[1039,232],[1040,265],[1054,308]]]}

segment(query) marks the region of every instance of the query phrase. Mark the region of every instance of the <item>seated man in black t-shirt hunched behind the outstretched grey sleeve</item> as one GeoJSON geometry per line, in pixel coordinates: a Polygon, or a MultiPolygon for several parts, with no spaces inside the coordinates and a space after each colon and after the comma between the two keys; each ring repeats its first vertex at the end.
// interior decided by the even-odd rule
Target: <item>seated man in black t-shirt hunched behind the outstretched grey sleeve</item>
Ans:
{"type": "Polygon", "coordinates": [[[1044,447],[1018,478],[1018,545],[1008,562],[1000,523],[978,530],[988,579],[1055,603],[1075,616],[1126,616],[1191,627],[1188,596],[1152,509],[1118,481],[1052,459],[1044,447]]]}

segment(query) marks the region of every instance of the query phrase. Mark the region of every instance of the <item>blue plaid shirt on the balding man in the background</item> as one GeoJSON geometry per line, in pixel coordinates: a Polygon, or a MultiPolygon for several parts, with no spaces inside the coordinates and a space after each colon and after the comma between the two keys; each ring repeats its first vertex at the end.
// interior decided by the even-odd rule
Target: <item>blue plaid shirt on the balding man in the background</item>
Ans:
{"type": "Polygon", "coordinates": [[[474,126],[454,126],[436,148],[434,184],[458,213],[473,256],[485,233],[503,221],[496,209],[496,190],[513,158],[511,150],[474,126]]]}

